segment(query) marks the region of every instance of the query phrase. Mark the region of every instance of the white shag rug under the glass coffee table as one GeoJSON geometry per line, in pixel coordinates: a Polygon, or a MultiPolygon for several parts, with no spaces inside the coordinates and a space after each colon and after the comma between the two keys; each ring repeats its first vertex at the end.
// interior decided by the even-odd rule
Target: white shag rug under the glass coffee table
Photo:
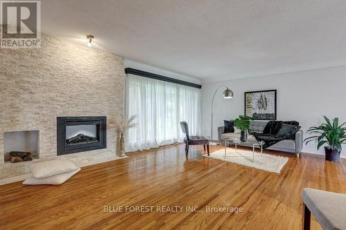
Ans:
{"type": "Polygon", "coordinates": [[[226,159],[225,149],[220,149],[218,151],[212,152],[210,153],[210,156],[203,155],[203,157],[241,164],[244,166],[253,167],[255,169],[262,169],[273,173],[280,173],[282,167],[289,160],[289,158],[287,157],[279,157],[276,155],[269,155],[265,153],[263,153],[263,155],[261,156],[261,153],[259,153],[258,150],[255,149],[255,162],[251,162],[253,160],[253,151],[237,149],[237,153],[235,153],[234,148],[227,148],[226,159]],[[247,157],[247,159],[245,157],[247,157]]]}

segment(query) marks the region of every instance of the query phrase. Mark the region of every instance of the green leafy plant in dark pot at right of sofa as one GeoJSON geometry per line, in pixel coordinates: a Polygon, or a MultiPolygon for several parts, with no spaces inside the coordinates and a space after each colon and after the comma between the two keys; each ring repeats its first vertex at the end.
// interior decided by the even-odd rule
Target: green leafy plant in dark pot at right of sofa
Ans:
{"type": "Polygon", "coordinates": [[[346,122],[339,125],[339,119],[335,117],[333,124],[331,124],[328,117],[323,117],[325,117],[325,123],[309,128],[307,132],[313,136],[307,137],[304,142],[306,141],[307,144],[313,140],[317,141],[317,149],[320,149],[324,144],[328,144],[328,146],[325,146],[325,160],[339,162],[342,150],[341,144],[346,142],[346,127],[344,126],[346,122]]]}

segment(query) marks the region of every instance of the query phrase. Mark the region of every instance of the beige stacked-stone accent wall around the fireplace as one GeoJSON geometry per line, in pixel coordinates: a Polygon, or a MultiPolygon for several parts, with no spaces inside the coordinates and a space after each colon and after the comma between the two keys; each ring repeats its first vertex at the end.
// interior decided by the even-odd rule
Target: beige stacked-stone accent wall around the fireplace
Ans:
{"type": "Polygon", "coordinates": [[[39,130],[39,160],[57,158],[58,116],[107,116],[107,148],[64,158],[88,162],[116,156],[123,113],[122,57],[42,34],[41,48],[0,48],[0,178],[28,173],[33,162],[4,162],[3,133],[39,130]]]}

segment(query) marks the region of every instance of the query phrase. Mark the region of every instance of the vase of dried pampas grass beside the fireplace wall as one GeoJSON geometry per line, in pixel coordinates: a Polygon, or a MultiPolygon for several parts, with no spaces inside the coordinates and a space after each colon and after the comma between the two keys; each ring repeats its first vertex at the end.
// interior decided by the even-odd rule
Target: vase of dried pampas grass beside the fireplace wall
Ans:
{"type": "Polygon", "coordinates": [[[124,117],[116,117],[114,124],[116,126],[116,133],[118,134],[118,143],[117,143],[117,152],[120,153],[120,157],[125,157],[125,132],[129,128],[136,126],[134,123],[136,116],[131,116],[128,120],[125,120],[124,117]]]}

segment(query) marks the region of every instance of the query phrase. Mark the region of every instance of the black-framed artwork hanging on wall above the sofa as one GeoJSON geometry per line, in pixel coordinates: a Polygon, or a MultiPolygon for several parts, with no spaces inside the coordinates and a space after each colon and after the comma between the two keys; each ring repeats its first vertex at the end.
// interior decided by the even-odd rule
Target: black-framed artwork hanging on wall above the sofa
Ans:
{"type": "Polygon", "coordinates": [[[276,90],[245,92],[245,115],[255,119],[276,119],[276,90]]]}

